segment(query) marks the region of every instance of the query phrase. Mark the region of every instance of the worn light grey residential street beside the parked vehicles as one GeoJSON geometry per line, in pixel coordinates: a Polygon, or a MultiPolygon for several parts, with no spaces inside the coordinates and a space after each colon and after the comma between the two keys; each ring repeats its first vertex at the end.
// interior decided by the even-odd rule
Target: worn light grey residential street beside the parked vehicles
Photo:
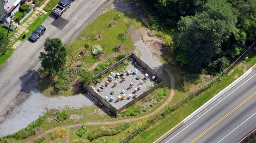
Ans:
{"type": "Polygon", "coordinates": [[[64,44],[74,40],[88,22],[103,9],[109,0],[74,1],[71,7],[58,19],[51,16],[42,24],[47,30],[35,43],[25,41],[9,60],[0,68],[0,122],[13,113],[31,92],[28,82],[40,67],[39,53],[44,49],[46,37],[57,37],[64,44]]]}

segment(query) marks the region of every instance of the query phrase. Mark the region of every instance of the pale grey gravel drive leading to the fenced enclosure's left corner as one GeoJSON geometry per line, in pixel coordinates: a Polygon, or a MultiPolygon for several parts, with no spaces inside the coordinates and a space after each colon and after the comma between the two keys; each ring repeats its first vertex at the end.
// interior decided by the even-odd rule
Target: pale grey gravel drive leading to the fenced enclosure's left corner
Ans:
{"type": "Polygon", "coordinates": [[[15,108],[13,113],[0,123],[0,137],[13,134],[20,129],[25,128],[28,124],[38,119],[39,116],[44,115],[47,109],[63,109],[65,107],[82,108],[84,106],[93,105],[93,102],[95,101],[89,94],[46,98],[35,87],[36,84],[36,79],[29,82],[26,89],[32,89],[32,91],[29,93],[26,101],[15,108]]]}

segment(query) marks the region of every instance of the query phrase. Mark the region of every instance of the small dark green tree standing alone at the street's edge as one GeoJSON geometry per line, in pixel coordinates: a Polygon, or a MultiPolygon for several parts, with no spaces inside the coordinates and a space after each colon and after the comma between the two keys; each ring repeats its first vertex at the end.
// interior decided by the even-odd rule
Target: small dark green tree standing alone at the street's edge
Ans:
{"type": "Polygon", "coordinates": [[[63,70],[67,51],[59,38],[46,38],[44,43],[46,53],[40,52],[41,66],[49,73],[56,74],[63,70]]]}

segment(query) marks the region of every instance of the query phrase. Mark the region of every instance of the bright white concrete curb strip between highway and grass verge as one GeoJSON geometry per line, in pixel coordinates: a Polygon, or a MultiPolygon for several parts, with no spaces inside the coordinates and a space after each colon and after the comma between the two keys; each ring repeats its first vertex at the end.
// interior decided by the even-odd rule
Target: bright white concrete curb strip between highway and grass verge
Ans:
{"type": "Polygon", "coordinates": [[[211,98],[209,101],[207,101],[206,103],[204,103],[204,105],[202,105],[201,107],[199,107],[196,111],[194,111],[192,114],[188,115],[187,118],[185,118],[183,120],[184,124],[188,121],[190,121],[190,119],[192,119],[194,116],[196,116],[198,113],[202,112],[206,107],[208,107],[212,102],[216,101],[218,98],[220,98],[225,92],[227,92],[229,89],[233,88],[237,83],[239,83],[242,79],[244,79],[248,74],[250,74],[252,72],[253,69],[256,68],[256,64],[254,64],[254,66],[252,68],[250,68],[249,70],[247,70],[247,72],[243,75],[241,75],[238,79],[236,79],[234,82],[232,82],[229,86],[227,86],[226,88],[224,88],[220,93],[218,93],[217,95],[215,95],[213,98],[211,98]]]}

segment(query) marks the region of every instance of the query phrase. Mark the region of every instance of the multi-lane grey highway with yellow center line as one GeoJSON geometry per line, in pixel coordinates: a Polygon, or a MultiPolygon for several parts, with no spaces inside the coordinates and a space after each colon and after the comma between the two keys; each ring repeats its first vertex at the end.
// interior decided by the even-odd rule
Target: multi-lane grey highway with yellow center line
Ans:
{"type": "Polygon", "coordinates": [[[236,142],[256,127],[256,70],[161,142],[236,142]]]}

